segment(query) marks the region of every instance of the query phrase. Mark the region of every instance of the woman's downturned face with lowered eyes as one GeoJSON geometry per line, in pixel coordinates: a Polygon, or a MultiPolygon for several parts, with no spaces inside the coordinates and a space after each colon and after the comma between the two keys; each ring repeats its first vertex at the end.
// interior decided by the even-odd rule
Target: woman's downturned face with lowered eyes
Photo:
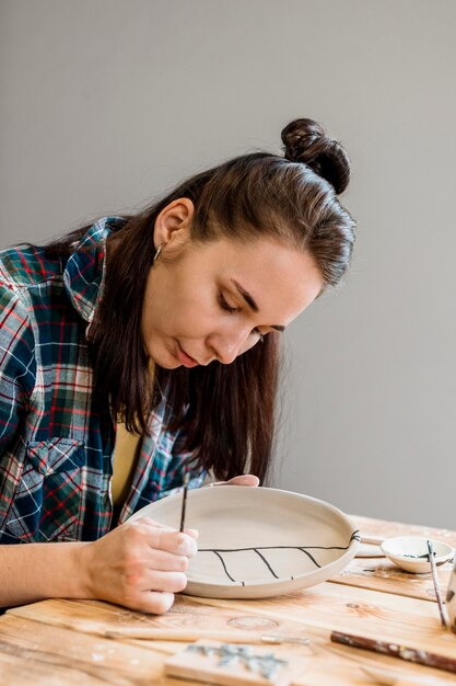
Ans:
{"type": "Polygon", "coordinates": [[[185,227],[168,236],[149,273],[141,320],[149,356],[166,369],[232,363],[283,330],[324,285],[308,254],[273,239],[196,244],[185,227]]]}

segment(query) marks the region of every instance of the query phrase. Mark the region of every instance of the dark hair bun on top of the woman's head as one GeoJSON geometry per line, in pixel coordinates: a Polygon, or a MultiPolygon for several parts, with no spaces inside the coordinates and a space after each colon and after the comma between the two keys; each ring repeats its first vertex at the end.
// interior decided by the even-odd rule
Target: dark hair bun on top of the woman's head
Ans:
{"type": "Polygon", "coordinates": [[[294,119],[281,134],[284,155],[291,162],[307,164],[326,179],[339,195],[350,181],[350,160],[338,142],[313,119],[294,119]]]}

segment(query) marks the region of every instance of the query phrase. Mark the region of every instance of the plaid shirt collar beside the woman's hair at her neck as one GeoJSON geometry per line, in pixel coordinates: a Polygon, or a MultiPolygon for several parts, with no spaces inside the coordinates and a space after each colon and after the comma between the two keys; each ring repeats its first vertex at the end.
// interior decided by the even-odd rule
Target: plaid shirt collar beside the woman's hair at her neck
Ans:
{"type": "Polygon", "coordinates": [[[106,272],[106,239],[122,217],[102,217],[74,242],[74,252],[63,271],[67,294],[78,313],[89,323],[102,296],[106,272]]]}

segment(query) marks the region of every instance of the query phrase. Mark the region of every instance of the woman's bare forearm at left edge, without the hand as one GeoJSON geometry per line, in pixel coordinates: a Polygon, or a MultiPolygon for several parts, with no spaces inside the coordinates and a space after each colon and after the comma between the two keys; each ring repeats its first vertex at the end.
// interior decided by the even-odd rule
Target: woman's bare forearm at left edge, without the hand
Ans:
{"type": "Polygon", "coordinates": [[[0,546],[0,607],[44,598],[90,597],[85,542],[0,546]]]}

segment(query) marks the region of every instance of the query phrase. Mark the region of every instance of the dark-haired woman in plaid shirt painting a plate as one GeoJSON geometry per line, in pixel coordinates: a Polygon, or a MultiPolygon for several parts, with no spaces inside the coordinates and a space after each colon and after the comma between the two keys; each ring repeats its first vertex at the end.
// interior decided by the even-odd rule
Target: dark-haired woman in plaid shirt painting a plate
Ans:
{"type": "Polygon", "coordinates": [[[265,479],[281,332],[354,240],[342,147],[311,119],[282,140],[283,158],[235,158],[138,215],[1,253],[2,605],[163,613],[197,531],[129,515],[185,472],[265,479]]]}

